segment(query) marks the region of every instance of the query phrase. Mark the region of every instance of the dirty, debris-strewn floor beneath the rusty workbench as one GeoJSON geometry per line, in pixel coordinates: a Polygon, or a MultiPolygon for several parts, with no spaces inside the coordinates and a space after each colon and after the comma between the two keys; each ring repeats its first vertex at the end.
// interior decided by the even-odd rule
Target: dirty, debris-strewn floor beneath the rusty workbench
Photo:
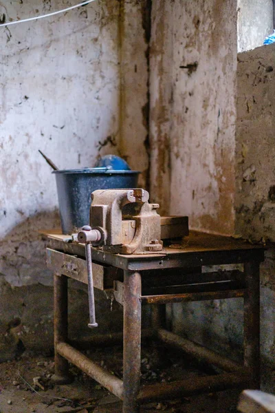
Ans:
{"type": "MultiPolygon", "coordinates": [[[[86,351],[103,368],[122,378],[122,347],[86,351]]],[[[122,403],[75,366],[74,382],[55,385],[52,354],[25,352],[17,360],[0,363],[0,413],[121,413],[122,403]]],[[[208,372],[209,373],[209,372],[208,372]]],[[[206,371],[183,359],[182,354],[157,344],[142,352],[142,384],[205,376],[206,371]]],[[[183,397],[143,405],[141,413],[235,413],[239,391],[183,397]]]]}

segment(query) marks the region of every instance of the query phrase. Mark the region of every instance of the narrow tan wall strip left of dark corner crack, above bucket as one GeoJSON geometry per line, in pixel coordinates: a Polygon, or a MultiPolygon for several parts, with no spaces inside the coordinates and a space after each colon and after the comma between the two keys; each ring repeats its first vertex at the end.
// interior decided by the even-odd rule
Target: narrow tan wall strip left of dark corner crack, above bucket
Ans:
{"type": "Polygon", "coordinates": [[[150,0],[120,2],[120,148],[148,185],[148,42],[150,0]]]}

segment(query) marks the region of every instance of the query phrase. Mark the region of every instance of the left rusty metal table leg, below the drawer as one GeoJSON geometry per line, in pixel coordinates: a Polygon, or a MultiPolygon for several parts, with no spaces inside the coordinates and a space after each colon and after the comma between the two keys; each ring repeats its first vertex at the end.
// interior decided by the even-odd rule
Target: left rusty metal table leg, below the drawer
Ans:
{"type": "Polygon", "coordinates": [[[68,281],[65,275],[54,275],[54,368],[52,380],[57,384],[72,383],[69,363],[56,351],[58,343],[66,342],[68,335],[68,281]]]}

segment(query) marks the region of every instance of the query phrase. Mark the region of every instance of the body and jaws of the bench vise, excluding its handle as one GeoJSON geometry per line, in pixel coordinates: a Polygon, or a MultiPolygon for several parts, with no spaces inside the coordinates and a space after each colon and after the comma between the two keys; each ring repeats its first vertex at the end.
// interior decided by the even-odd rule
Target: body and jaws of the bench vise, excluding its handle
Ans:
{"type": "Polygon", "coordinates": [[[94,246],[121,254],[162,250],[159,205],[149,204],[148,199],[144,189],[94,191],[90,224],[101,233],[94,246]]]}

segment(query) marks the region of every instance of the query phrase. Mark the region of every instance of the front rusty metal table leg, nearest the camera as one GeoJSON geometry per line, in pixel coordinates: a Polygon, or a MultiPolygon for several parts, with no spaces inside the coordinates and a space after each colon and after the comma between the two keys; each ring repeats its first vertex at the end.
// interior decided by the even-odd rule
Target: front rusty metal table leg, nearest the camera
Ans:
{"type": "Polygon", "coordinates": [[[141,291],[140,273],[124,271],[123,413],[140,412],[141,291]]]}

